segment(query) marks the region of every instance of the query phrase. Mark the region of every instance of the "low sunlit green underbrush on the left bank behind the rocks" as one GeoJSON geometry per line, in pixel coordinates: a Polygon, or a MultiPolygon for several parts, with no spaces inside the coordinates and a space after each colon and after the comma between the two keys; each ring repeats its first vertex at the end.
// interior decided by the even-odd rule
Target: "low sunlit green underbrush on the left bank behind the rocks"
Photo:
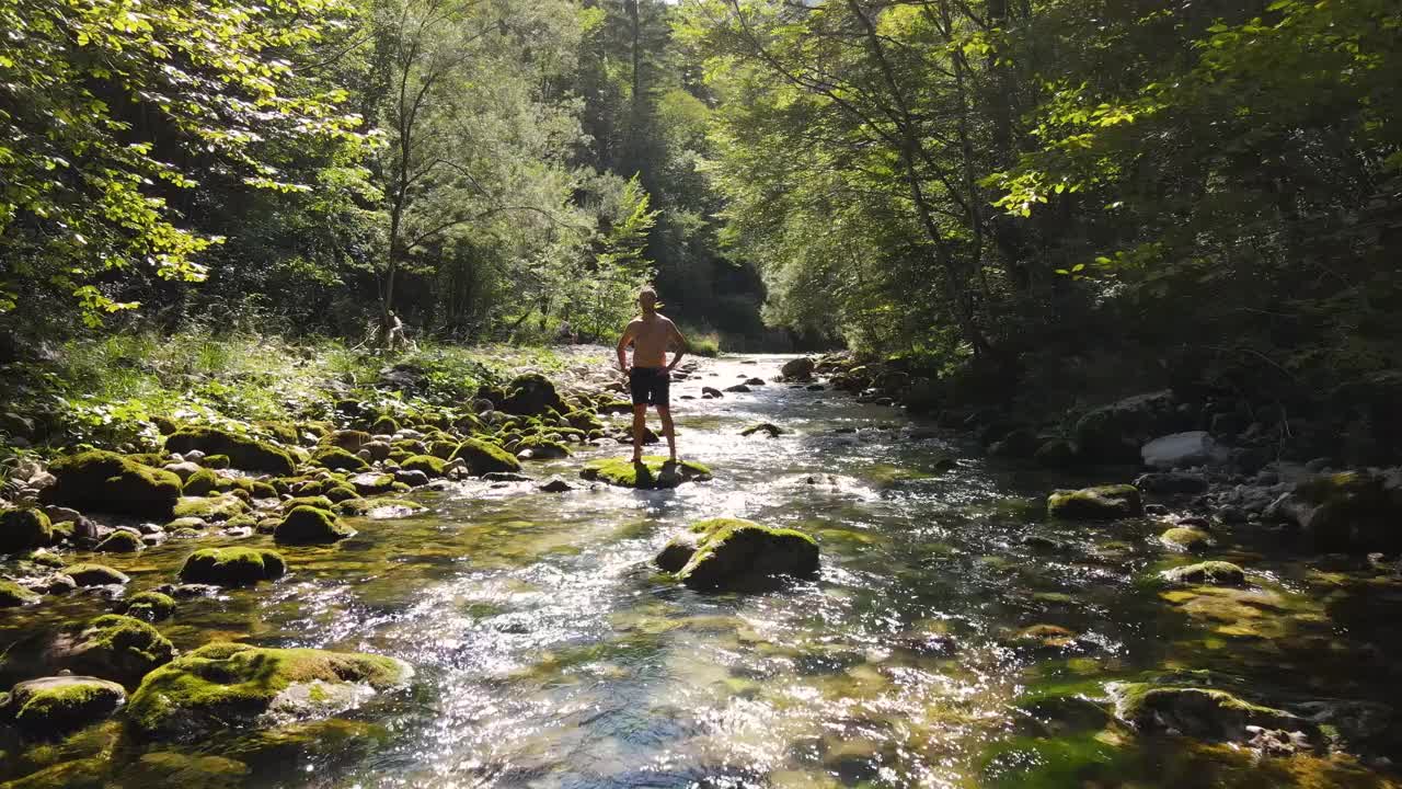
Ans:
{"type": "Polygon", "coordinates": [[[157,418],[257,431],[258,423],[321,418],[342,399],[390,410],[463,406],[482,383],[565,364],[551,348],[423,344],[386,354],[338,340],[195,330],[70,341],[46,361],[0,365],[8,387],[0,463],[60,446],[150,446],[157,418]]]}

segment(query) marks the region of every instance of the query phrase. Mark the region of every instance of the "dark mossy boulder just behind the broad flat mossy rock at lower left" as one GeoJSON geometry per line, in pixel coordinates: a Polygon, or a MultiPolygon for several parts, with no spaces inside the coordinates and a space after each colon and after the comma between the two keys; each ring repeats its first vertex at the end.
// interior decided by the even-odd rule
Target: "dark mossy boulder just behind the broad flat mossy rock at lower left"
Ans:
{"type": "Polygon", "coordinates": [[[130,685],[175,656],[171,642],[147,622],[105,614],[77,633],[60,635],[50,649],[53,665],[130,685]]]}

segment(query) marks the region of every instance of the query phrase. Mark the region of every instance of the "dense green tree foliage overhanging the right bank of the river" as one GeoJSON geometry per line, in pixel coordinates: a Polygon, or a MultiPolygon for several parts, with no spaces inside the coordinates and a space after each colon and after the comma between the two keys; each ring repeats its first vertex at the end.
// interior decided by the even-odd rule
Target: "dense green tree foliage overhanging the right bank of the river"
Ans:
{"type": "Polygon", "coordinates": [[[1043,406],[1186,383],[1395,423],[1395,0],[683,7],[773,320],[1043,406]]]}

